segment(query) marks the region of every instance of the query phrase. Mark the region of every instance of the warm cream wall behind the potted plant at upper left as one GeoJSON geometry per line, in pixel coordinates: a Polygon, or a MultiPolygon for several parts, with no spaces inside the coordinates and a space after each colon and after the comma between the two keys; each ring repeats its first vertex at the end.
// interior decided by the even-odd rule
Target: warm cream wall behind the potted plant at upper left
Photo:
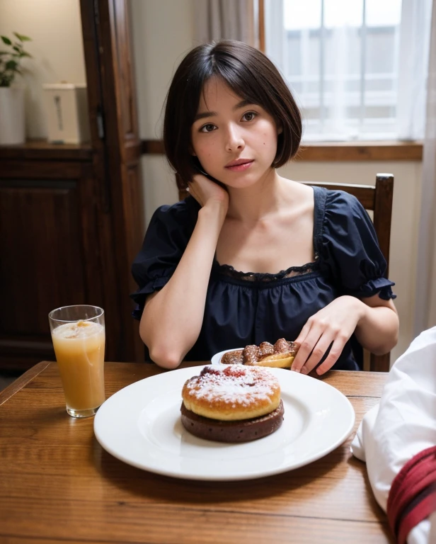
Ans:
{"type": "Polygon", "coordinates": [[[24,77],[16,78],[26,88],[26,135],[45,138],[42,84],[86,83],[79,0],[0,0],[0,34],[15,39],[13,31],[33,40],[25,42],[33,59],[23,60],[24,77]]]}

